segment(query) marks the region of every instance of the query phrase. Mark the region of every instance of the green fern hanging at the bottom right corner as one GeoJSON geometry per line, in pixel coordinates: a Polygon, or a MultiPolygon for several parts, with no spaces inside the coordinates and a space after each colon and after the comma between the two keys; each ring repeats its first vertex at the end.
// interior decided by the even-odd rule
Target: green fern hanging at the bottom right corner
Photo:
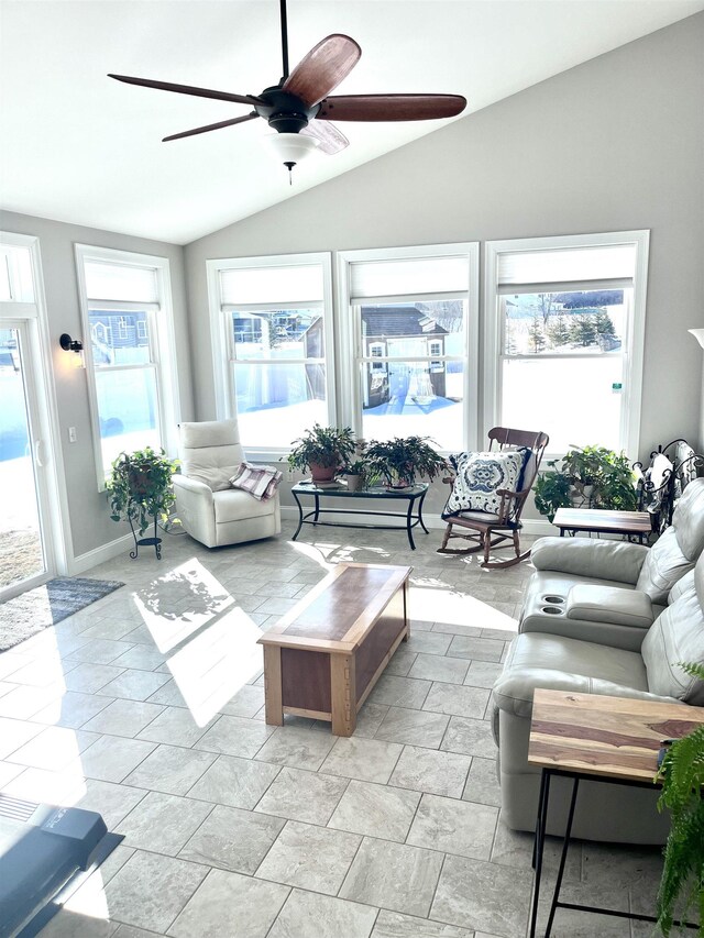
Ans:
{"type": "MultiPolygon", "coordinates": [[[[680,667],[704,681],[704,665],[680,664],[680,667]]],[[[689,911],[695,907],[701,938],[704,936],[704,724],[670,746],[657,781],[662,785],[658,808],[671,812],[658,890],[658,927],[668,938],[674,926],[675,909],[686,919],[689,911]]]]}

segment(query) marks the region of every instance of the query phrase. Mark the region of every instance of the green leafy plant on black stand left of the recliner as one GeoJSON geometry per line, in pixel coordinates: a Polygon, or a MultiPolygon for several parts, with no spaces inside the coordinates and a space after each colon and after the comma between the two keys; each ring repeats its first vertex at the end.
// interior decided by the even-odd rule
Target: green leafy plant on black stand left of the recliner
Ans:
{"type": "Polygon", "coordinates": [[[155,520],[168,527],[176,500],[172,476],[177,466],[178,460],[169,460],[164,450],[155,452],[151,446],[120,453],[107,482],[112,520],[131,521],[140,534],[155,520]]]}

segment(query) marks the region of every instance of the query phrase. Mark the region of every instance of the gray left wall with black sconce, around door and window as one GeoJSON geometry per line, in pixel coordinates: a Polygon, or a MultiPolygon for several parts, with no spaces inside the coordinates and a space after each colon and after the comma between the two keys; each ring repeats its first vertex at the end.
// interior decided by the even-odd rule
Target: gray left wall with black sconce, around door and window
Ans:
{"type": "Polygon", "coordinates": [[[64,224],[43,218],[0,213],[0,228],[19,234],[31,234],[40,240],[44,290],[52,336],[54,363],[53,382],[58,409],[61,459],[66,475],[66,494],[70,514],[73,554],[80,556],[88,551],[113,541],[124,533],[110,520],[105,494],[98,492],[92,450],[90,411],[86,372],[67,368],[65,355],[58,347],[58,336],[68,332],[81,338],[80,307],[74,244],[92,244],[121,251],[136,251],[168,257],[174,299],[174,331],[178,361],[182,417],[191,419],[193,386],[190,380],[190,353],[188,340],[186,288],[184,278],[183,247],[161,241],[131,238],[114,232],[64,224]],[[75,427],[78,440],[68,442],[68,427],[75,427]]]}

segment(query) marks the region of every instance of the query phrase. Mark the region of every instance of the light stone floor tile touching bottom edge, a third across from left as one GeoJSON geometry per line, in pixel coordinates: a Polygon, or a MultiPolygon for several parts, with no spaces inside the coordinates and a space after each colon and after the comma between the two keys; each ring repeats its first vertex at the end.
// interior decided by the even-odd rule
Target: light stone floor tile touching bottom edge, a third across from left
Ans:
{"type": "Polygon", "coordinates": [[[278,883],[211,870],[168,934],[174,938],[266,938],[288,893],[278,883]]]}

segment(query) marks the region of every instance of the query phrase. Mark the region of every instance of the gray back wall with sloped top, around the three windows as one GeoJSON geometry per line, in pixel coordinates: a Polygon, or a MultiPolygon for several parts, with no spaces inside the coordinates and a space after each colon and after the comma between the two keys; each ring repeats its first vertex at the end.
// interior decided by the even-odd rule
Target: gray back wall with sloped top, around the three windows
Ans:
{"type": "Polygon", "coordinates": [[[704,445],[686,332],[704,324],[703,48],[700,13],[188,245],[198,419],[215,413],[208,258],[650,229],[639,455],[704,445]]]}

